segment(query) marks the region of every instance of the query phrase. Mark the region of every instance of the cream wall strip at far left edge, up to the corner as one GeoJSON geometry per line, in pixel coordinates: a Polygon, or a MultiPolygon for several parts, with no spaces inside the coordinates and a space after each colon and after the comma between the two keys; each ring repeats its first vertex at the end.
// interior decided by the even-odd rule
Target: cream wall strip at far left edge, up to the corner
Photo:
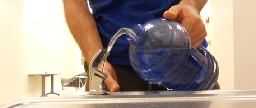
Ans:
{"type": "Polygon", "coordinates": [[[19,99],[23,0],[0,0],[0,104],[19,99]]]}

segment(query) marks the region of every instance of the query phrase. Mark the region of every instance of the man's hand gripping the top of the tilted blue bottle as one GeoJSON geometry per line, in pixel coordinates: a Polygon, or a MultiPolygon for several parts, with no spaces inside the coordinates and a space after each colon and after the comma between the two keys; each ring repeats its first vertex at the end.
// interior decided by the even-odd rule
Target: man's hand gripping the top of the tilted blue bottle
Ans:
{"type": "Polygon", "coordinates": [[[205,25],[201,20],[199,11],[192,5],[176,5],[164,12],[165,19],[181,23],[191,38],[191,44],[197,48],[207,35],[205,25]]]}

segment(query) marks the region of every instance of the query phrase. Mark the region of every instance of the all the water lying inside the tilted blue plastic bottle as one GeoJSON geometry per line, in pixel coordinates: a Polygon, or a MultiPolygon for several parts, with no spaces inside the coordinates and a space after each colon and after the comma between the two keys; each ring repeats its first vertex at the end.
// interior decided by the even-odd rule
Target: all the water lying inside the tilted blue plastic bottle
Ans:
{"type": "Polygon", "coordinates": [[[189,52],[190,48],[135,52],[138,55],[136,63],[139,67],[143,67],[136,70],[137,74],[151,83],[164,84],[168,90],[196,89],[207,75],[208,70],[202,66],[207,59],[198,60],[190,53],[186,64],[177,66],[181,58],[180,51],[189,52]]]}

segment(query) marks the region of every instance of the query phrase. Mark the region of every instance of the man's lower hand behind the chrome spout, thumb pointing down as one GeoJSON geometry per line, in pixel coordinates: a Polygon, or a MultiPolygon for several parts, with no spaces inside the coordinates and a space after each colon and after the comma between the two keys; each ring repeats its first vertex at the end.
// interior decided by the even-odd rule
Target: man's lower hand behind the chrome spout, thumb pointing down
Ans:
{"type": "Polygon", "coordinates": [[[105,86],[107,91],[119,91],[120,86],[116,76],[116,71],[109,62],[105,62],[104,74],[107,75],[105,79],[105,86]]]}

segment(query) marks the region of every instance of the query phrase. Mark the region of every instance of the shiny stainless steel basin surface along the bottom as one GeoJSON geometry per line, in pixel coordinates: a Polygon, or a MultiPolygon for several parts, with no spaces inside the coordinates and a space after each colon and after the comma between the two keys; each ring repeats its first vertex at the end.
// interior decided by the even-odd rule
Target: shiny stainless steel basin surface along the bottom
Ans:
{"type": "Polygon", "coordinates": [[[253,108],[256,90],[139,91],[22,99],[0,108],[253,108]]]}

